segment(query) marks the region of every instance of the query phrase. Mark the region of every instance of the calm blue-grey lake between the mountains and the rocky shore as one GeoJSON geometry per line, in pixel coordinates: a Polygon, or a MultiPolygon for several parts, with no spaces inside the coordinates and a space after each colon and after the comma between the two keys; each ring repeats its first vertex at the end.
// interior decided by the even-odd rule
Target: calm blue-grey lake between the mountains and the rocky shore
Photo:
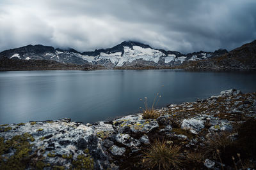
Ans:
{"type": "Polygon", "coordinates": [[[30,120],[97,122],[138,113],[161,95],[157,108],[195,101],[221,90],[256,92],[255,72],[180,70],[0,72],[0,124],[30,120]]]}

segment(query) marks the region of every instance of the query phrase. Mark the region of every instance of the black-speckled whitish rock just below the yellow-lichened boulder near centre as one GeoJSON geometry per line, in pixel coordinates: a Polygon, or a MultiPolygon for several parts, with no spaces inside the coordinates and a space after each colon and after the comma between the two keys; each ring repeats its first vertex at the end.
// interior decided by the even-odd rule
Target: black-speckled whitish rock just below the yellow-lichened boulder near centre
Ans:
{"type": "Polygon", "coordinates": [[[132,138],[129,136],[129,134],[116,134],[116,141],[130,148],[136,148],[140,146],[140,141],[132,138]]]}

